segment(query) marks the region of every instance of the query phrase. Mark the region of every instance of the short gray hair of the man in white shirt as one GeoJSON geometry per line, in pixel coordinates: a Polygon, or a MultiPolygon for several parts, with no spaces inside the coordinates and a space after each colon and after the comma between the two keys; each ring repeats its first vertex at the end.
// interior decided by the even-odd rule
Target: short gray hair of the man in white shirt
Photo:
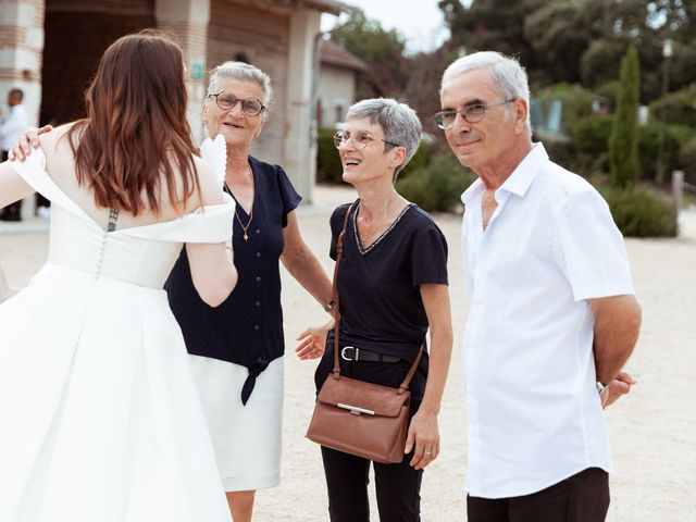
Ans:
{"type": "MultiPolygon", "coordinates": [[[[526,71],[514,58],[506,57],[495,51],[481,51],[468,54],[455,60],[443,74],[439,95],[443,96],[445,84],[461,73],[487,69],[490,71],[495,89],[502,95],[506,100],[522,98],[526,101],[526,129],[532,135],[532,123],[530,121],[530,82],[526,71]]],[[[507,109],[507,105],[506,105],[507,109]]]]}

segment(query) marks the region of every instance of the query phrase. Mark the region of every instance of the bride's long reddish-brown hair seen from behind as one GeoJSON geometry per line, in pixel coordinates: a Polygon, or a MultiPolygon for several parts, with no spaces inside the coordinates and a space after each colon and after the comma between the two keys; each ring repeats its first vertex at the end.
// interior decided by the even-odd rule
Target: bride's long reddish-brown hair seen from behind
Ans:
{"type": "Polygon", "coordinates": [[[145,30],[112,44],[85,101],[87,117],[69,139],[77,181],[94,190],[98,207],[160,214],[163,179],[179,212],[194,191],[200,197],[184,55],[169,37],[145,30]]]}

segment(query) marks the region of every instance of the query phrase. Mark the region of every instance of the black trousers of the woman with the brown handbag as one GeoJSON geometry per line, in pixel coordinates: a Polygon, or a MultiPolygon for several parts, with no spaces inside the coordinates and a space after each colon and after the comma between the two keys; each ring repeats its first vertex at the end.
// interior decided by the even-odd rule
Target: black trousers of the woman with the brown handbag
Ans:
{"type": "MultiPolygon", "coordinates": [[[[333,365],[333,350],[327,350],[314,374],[316,389],[321,388],[333,365]]],[[[391,387],[403,381],[410,368],[407,361],[340,362],[343,375],[391,387]]],[[[426,378],[426,373],[419,369],[411,381],[410,417],[418,411],[426,378]]],[[[380,521],[420,522],[423,470],[417,471],[409,465],[412,458],[413,451],[398,464],[381,464],[322,446],[331,522],[370,522],[368,483],[371,462],[374,467],[380,521]]]]}

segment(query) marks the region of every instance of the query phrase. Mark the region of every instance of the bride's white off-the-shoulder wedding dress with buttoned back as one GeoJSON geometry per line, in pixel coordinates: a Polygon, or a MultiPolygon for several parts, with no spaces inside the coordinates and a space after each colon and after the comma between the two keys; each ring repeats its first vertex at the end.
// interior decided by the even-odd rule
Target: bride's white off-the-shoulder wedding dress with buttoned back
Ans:
{"type": "Polygon", "coordinates": [[[0,304],[0,521],[231,522],[162,286],[233,203],[107,233],[45,163],[13,163],[52,208],[48,262],[0,304]]]}

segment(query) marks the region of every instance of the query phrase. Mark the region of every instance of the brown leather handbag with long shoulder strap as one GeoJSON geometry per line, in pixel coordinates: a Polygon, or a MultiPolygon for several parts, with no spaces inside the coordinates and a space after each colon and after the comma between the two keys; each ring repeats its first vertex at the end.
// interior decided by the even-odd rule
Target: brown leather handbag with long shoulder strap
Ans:
{"type": "Polygon", "coordinates": [[[340,375],[338,265],[343,258],[346,225],[352,207],[346,212],[344,228],[336,241],[333,290],[336,320],[334,370],[319,390],[307,437],[338,451],[389,464],[403,460],[411,398],[408,387],[423,355],[423,347],[421,346],[418,357],[398,388],[340,375]]]}

